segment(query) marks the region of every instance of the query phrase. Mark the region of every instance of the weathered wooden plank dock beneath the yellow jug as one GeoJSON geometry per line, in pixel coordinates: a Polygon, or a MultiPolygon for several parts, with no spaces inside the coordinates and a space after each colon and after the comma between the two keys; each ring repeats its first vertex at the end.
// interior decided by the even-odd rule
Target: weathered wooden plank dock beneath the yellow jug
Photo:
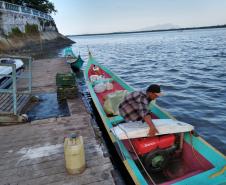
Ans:
{"type": "MultiPolygon", "coordinates": [[[[38,60],[32,70],[33,92],[48,93],[56,91],[55,74],[69,71],[69,66],[61,58],[38,60]]],[[[69,117],[0,127],[0,185],[115,184],[112,163],[103,155],[81,98],[68,105],[69,117]],[[79,175],[68,175],[65,169],[63,142],[71,133],[84,139],[86,170],[79,175]]]]}

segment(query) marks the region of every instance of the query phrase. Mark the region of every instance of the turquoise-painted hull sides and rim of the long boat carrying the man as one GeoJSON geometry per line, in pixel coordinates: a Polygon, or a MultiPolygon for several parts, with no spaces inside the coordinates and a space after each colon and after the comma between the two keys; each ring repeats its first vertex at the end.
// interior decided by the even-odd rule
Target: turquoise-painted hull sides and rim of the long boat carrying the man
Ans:
{"type": "MultiPolygon", "coordinates": [[[[87,86],[92,97],[92,100],[101,116],[101,119],[104,123],[106,131],[110,136],[112,142],[119,151],[119,155],[122,158],[122,161],[129,172],[130,176],[134,180],[135,184],[146,185],[146,184],[154,184],[150,182],[150,179],[147,179],[143,174],[140,167],[138,167],[137,163],[132,158],[128,148],[126,148],[125,144],[115,137],[115,135],[110,131],[110,129],[117,123],[121,122],[123,118],[121,116],[108,117],[103,109],[103,106],[98,99],[97,94],[94,91],[93,85],[89,79],[89,70],[91,67],[95,65],[105,71],[109,76],[117,83],[121,85],[128,92],[134,91],[134,89],[126,84],[121,78],[116,76],[113,72],[107,69],[105,66],[100,65],[90,54],[87,66],[84,71],[84,76],[87,82],[87,86]]],[[[157,115],[160,119],[175,119],[169,113],[165,112],[162,108],[160,108],[157,104],[150,104],[151,111],[157,115]]],[[[202,156],[205,162],[209,164],[209,166],[205,170],[198,170],[194,172],[188,173],[188,175],[183,178],[175,178],[170,181],[165,181],[160,184],[162,185],[226,185],[226,157],[220,153],[218,150],[213,148],[210,144],[208,144],[205,140],[203,140],[200,136],[196,136],[191,133],[184,133],[183,142],[185,146],[191,148],[193,152],[186,153],[184,151],[185,156],[192,156],[191,158],[195,158],[195,156],[202,156]]],[[[189,161],[187,161],[189,163],[189,161]]],[[[198,163],[198,161],[197,161],[198,163]]],[[[204,162],[203,162],[204,163],[204,162]]]]}

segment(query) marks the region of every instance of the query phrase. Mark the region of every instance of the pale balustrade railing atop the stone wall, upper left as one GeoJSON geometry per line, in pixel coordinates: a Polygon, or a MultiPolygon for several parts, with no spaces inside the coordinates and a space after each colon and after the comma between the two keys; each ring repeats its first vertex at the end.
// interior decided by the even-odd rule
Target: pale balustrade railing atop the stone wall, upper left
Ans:
{"type": "Polygon", "coordinates": [[[49,21],[53,20],[53,18],[50,15],[43,13],[41,11],[26,7],[26,6],[20,6],[20,5],[16,5],[16,4],[12,4],[12,3],[7,3],[5,1],[0,1],[0,9],[5,10],[5,11],[13,11],[13,12],[17,12],[17,13],[22,13],[22,14],[29,14],[29,15],[37,16],[37,17],[40,17],[42,19],[46,19],[49,21]]]}

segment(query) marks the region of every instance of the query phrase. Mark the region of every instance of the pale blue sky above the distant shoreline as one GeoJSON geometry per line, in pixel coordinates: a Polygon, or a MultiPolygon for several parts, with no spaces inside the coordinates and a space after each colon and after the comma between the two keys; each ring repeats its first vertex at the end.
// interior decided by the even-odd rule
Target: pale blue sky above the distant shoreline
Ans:
{"type": "Polygon", "coordinates": [[[50,0],[64,35],[226,24],[226,0],[50,0]]]}

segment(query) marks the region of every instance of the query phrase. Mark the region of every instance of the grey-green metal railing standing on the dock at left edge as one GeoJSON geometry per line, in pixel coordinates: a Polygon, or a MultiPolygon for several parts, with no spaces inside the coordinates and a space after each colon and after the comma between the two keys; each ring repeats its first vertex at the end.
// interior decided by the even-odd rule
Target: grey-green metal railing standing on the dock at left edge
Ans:
{"type": "Polygon", "coordinates": [[[0,93],[11,93],[13,95],[13,114],[17,115],[17,95],[18,94],[31,94],[32,90],[32,58],[31,57],[21,57],[21,56],[3,56],[0,55],[0,58],[11,58],[11,59],[24,59],[28,60],[28,72],[27,74],[17,75],[16,73],[16,65],[15,64],[1,64],[0,66],[11,67],[11,74],[0,74],[0,76],[12,78],[12,88],[0,88],[0,93]],[[17,91],[17,79],[28,79],[28,90],[17,91]]]}

